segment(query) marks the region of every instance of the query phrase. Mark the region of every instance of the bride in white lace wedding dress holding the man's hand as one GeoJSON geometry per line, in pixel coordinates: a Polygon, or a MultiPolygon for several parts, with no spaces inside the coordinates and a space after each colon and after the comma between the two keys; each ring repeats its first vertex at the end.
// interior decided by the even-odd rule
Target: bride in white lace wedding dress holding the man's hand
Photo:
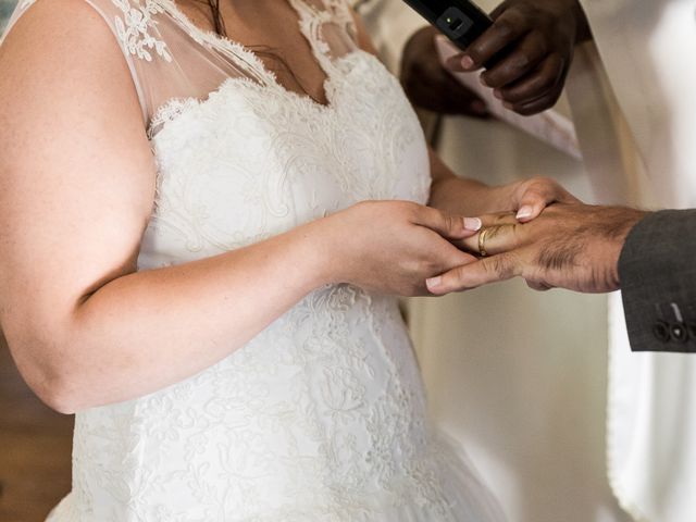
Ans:
{"type": "Polygon", "coordinates": [[[0,47],[0,324],[77,412],[50,520],[501,520],[390,296],[471,261],[448,212],[563,194],[428,158],[345,2],[220,8],[24,0],[0,47]]]}

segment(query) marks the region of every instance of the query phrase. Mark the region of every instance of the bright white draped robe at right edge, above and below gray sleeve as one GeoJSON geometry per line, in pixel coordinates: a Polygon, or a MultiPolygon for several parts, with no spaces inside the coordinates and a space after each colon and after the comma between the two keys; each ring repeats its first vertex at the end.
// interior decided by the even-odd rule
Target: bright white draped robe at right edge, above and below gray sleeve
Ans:
{"type": "MultiPolygon", "coordinates": [[[[607,113],[618,145],[602,147],[589,132],[592,112],[576,111],[588,130],[580,138],[593,185],[608,202],[696,208],[696,0],[583,3],[608,76],[607,113]]],[[[575,78],[581,84],[602,75],[597,62],[585,65],[575,78]]],[[[570,90],[577,107],[586,103],[583,88],[571,83],[570,90]]],[[[610,308],[611,483],[636,520],[693,522],[696,357],[632,353],[618,295],[610,308]]]]}

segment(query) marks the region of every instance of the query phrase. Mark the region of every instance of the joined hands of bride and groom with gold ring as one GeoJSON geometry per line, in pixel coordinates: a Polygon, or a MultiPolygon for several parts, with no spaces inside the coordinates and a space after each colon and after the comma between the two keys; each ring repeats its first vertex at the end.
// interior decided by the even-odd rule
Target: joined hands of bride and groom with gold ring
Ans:
{"type": "Polygon", "coordinates": [[[511,208],[464,217],[369,201],[335,214],[336,226],[362,232],[327,235],[328,248],[346,252],[334,276],[401,296],[442,296],[517,276],[536,290],[619,288],[619,256],[644,212],[585,204],[546,178],[492,190],[506,194],[511,208]]]}

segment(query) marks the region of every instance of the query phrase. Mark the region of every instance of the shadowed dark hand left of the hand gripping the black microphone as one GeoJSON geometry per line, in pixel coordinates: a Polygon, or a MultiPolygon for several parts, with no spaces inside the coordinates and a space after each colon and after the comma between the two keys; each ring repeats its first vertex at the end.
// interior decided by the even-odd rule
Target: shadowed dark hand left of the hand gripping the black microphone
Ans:
{"type": "Polygon", "coordinates": [[[408,41],[401,58],[401,84],[417,107],[440,114],[486,117],[485,103],[457,82],[439,63],[434,27],[424,27],[408,41]]]}

